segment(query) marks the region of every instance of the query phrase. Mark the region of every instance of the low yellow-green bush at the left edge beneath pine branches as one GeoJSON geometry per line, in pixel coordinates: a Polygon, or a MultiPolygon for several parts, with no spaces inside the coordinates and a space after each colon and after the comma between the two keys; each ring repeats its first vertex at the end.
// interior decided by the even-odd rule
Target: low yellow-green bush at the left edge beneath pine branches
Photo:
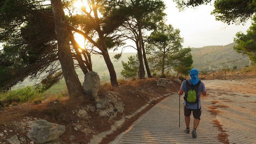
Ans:
{"type": "Polygon", "coordinates": [[[3,106],[9,106],[10,104],[18,104],[28,101],[39,103],[44,99],[44,93],[41,93],[39,89],[32,90],[32,88],[29,86],[26,88],[12,90],[11,92],[0,94],[0,101],[2,102],[3,106]]]}

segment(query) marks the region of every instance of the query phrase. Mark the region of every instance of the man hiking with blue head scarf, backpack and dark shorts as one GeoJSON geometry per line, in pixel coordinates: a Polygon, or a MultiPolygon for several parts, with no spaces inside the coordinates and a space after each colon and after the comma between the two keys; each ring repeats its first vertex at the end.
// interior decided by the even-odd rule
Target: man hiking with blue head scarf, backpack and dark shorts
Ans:
{"type": "Polygon", "coordinates": [[[189,134],[190,132],[190,127],[189,127],[190,115],[191,115],[191,111],[193,112],[194,127],[192,130],[192,138],[197,137],[196,128],[198,127],[198,124],[200,122],[200,116],[202,113],[200,94],[202,93],[204,96],[206,96],[204,83],[199,80],[198,74],[199,72],[196,68],[193,68],[192,70],[190,70],[191,79],[184,80],[178,92],[179,95],[182,95],[183,92],[185,92],[183,104],[184,104],[184,116],[185,116],[185,122],[186,122],[185,133],[187,134],[189,134]]]}

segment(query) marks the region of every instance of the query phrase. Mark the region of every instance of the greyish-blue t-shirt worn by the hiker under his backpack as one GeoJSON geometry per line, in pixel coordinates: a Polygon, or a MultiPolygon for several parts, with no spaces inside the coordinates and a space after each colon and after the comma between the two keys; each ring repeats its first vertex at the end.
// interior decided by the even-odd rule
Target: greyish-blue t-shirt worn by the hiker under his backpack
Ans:
{"type": "MultiPolygon", "coordinates": [[[[192,85],[192,82],[191,80],[188,80],[188,83],[192,85]]],[[[186,92],[186,80],[184,80],[181,84],[181,87],[180,87],[181,90],[183,90],[184,92],[186,92]]],[[[189,108],[189,109],[197,109],[198,107],[201,108],[201,92],[206,92],[205,90],[205,86],[204,86],[204,83],[201,82],[200,85],[198,86],[198,90],[199,90],[199,96],[198,96],[198,105],[196,102],[194,103],[190,103],[190,102],[186,102],[184,100],[183,104],[184,106],[186,106],[186,108],[189,108]]],[[[185,95],[184,95],[185,97],[185,95]]]]}

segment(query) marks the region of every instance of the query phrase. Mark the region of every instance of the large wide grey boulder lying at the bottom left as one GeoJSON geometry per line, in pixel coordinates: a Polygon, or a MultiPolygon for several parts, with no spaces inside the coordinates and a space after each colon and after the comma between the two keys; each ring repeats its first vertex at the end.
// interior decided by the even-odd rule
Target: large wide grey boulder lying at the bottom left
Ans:
{"type": "Polygon", "coordinates": [[[28,122],[30,132],[27,136],[30,140],[38,144],[44,144],[52,140],[56,140],[60,135],[62,135],[66,127],[54,123],[47,122],[46,120],[36,120],[28,122]]]}

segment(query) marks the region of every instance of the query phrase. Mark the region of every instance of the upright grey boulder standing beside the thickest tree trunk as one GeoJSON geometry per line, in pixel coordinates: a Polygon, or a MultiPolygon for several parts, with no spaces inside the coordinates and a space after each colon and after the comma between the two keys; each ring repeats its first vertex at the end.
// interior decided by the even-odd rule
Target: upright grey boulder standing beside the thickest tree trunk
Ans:
{"type": "Polygon", "coordinates": [[[100,88],[100,76],[96,72],[88,72],[84,76],[83,89],[87,96],[96,100],[100,88]]]}

